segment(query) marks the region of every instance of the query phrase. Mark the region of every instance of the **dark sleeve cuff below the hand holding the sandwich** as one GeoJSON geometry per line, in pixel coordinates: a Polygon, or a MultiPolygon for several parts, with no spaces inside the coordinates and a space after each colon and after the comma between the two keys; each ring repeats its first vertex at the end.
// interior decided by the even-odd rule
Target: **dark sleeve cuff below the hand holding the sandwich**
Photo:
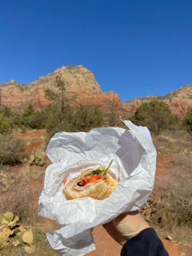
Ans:
{"type": "Polygon", "coordinates": [[[154,228],[145,228],[122,247],[121,256],[168,256],[154,228]]]}

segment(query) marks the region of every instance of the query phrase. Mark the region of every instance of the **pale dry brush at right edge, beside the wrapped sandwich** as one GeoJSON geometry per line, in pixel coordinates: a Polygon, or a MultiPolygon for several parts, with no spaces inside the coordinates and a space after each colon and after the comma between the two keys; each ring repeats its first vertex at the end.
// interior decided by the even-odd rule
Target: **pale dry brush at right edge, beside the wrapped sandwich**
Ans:
{"type": "MultiPolygon", "coordinates": [[[[192,217],[192,177],[191,177],[191,157],[178,157],[172,163],[170,172],[165,177],[157,179],[161,186],[163,196],[161,210],[167,215],[168,223],[180,225],[188,223],[192,217]]],[[[167,223],[167,225],[168,225],[167,223]]],[[[192,222],[191,222],[192,224],[192,222]]]]}

